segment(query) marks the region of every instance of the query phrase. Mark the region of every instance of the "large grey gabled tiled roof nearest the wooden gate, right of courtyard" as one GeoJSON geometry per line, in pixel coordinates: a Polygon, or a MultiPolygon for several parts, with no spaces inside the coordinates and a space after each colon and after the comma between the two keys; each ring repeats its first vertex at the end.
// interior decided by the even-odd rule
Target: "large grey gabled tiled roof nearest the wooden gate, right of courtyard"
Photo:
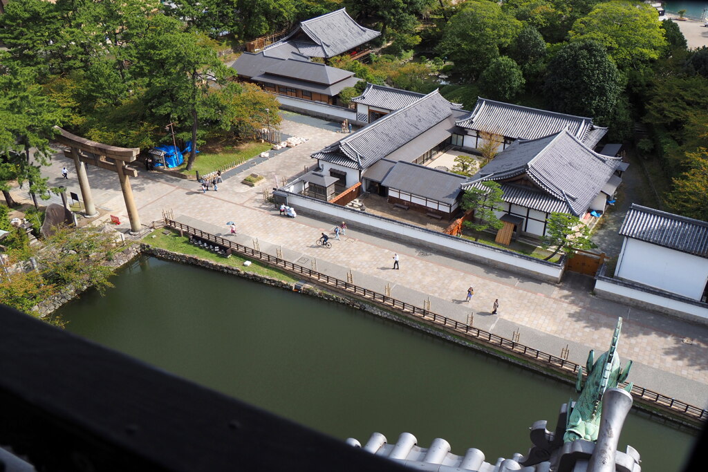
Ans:
{"type": "Polygon", "coordinates": [[[561,131],[514,142],[481,168],[474,180],[503,181],[525,175],[580,217],[621,163],[621,159],[595,153],[571,133],[561,131]]]}

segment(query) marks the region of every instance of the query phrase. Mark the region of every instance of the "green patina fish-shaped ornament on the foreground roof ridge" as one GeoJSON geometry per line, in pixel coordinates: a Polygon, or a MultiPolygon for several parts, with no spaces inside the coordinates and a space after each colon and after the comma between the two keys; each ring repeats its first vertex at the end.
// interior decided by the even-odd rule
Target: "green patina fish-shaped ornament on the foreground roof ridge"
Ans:
{"type": "MultiPolygon", "coordinates": [[[[619,341],[619,332],[621,330],[622,318],[618,318],[615,334],[612,335],[610,349],[604,352],[598,362],[594,364],[595,352],[590,350],[586,365],[588,377],[585,381],[585,386],[582,386],[583,368],[580,368],[576,389],[581,393],[574,405],[569,403],[572,406],[569,406],[570,414],[567,417],[566,433],[563,436],[564,442],[571,442],[576,439],[585,439],[592,442],[598,440],[600,415],[603,409],[603,394],[607,388],[617,388],[620,382],[625,381],[629,375],[629,369],[632,368],[632,361],[627,362],[624,369],[619,364],[617,342],[619,341]]],[[[632,393],[632,384],[628,384],[624,389],[632,393]]]]}

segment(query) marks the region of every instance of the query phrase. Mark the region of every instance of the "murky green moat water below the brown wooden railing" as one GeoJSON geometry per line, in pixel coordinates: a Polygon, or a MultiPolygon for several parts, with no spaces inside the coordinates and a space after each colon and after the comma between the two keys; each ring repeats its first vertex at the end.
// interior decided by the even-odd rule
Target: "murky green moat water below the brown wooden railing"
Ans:
{"type": "MultiPolygon", "coordinates": [[[[574,394],[395,323],[196,267],[144,258],[113,282],[64,306],[69,331],[341,439],[443,437],[493,464],[525,454],[532,423],[553,428],[574,394]]],[[[644,472],[671,472],[693,439],[632,414],[619,446],[639,451],[644,472]]]]}

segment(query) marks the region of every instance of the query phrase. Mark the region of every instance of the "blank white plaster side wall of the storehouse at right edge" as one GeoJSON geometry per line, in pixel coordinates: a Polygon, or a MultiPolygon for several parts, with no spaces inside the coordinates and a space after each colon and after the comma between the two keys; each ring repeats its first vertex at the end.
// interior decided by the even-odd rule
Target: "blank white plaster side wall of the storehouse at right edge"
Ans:
{"type": "Polygon", "coordinates": [[[615,276],[700,300],[708,259],[625,238],[615,276]]]}

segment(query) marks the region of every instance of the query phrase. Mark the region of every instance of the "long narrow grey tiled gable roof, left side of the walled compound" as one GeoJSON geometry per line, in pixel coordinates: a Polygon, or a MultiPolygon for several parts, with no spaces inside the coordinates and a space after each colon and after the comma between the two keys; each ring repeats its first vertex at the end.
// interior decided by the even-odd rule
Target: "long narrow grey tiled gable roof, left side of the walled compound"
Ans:
{"type": "MultiPolygon", "coordinates": [[[[436,90],[401,110],[327,146],[312,155],[315,159],[347,156],[354,168],[365,169],[411,142],[423,132],[452,115],[451,103],[436,90]]],[[[423,154],[427,149],[421,149],[423,154]]],[[[351,167],[352,165],[348,165],[351,167]]]]}

